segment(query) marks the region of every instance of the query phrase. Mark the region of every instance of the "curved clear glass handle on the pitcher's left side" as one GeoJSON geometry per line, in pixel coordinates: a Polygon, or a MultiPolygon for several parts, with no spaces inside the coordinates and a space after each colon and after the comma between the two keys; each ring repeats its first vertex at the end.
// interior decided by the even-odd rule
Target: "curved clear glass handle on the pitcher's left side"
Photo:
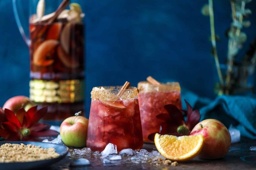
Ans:
{"type": "MultiPolygon", "coordinates": [[[[19,0],[18,0],[19,1],[19,0]]],[[[20,1],[19,1],[20,2],[20,1]]],[[[18,4],[19,6],[21,6],[21,3],[18,4]]],[[[20,8],[22,10],[22,8],[20,8]]],[[[21,20],[20,20],[20,17],[22,18],[22,20],[25,20],[24,19],[24,15],[22,16],[19,16],[18,15],[18,10],[17,10],[17,1],[16,0],[13,0],[13,12],[14,12],[14,17],[15,17],[15,20],[16,20],[16,23],[17,23],[17,26],[18,26],[18,29],[20,30],[20,33],[21,33],[21,36],[23,38],[23,40],[25,41],[25,43],[28,45],[28,47],[30,46],[30,39],[29,39],[29,32],[26,34],[24,32],[24,29],[21,25],[21,20]]]]}

